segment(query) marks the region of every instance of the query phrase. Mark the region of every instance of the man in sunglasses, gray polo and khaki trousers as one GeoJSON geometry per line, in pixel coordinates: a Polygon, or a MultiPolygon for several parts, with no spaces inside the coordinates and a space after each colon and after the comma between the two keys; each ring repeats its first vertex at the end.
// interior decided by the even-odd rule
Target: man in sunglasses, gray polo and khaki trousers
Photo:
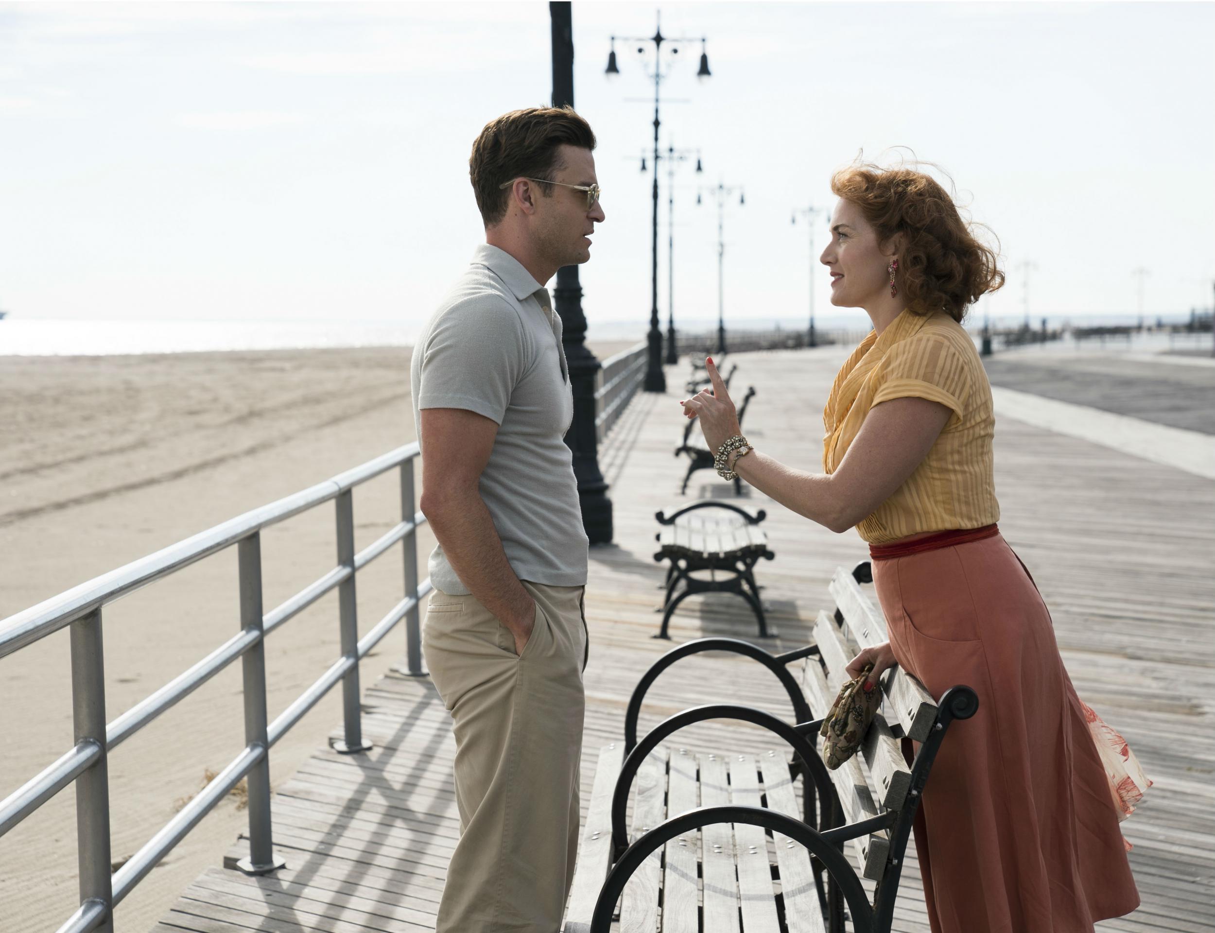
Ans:
{"type": "Polygon", "coordinates": [[[486,242],[413,350],[422,510],[439,539],[422,644],[453,720],[460,818],[439,933],[554,933],[573,877],[587,536],[542,283],[590,258],[594,147],[569,107],[486,125],[469,160],[486,242]]]}

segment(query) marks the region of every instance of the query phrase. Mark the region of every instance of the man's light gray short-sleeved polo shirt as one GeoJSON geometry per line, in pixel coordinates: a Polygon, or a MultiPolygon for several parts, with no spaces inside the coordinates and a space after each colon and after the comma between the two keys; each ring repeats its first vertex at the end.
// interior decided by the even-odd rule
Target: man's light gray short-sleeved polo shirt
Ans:
{"type": "MultiPolygon", "coordinates": [[[[497,422],[480,492],[515,576],[584,586],[587,536],[564,441],[573,395],[548,289],[509,253],[481,244],[423,328],[409,381],[419,439],[423,408],[497,422]]],[[[430,554],[430,581],[453,595],[469,592],[441,545],[430,554]]]]}

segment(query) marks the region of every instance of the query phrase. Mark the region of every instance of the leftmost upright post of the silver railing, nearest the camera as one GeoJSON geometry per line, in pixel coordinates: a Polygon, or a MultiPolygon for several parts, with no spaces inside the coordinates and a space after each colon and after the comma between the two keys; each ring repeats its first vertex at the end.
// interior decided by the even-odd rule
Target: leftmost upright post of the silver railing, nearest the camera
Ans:
{"type": "Polygon", "coordinates": [[[101,901],[106,920],[95,929],[113,933],[113,886],[109,873],[109,768],[106,756],[106,666],[102,655],[101,607],[75,620],[72,643],[72,724],[77,745],[95,742],[101,757],[75,780],[77,856],[80,903],[101,901]]]}

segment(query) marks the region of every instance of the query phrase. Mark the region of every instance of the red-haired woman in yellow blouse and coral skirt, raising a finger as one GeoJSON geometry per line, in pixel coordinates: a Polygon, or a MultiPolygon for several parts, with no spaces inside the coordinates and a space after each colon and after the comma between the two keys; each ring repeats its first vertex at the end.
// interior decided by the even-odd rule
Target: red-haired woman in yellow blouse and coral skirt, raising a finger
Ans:
{"type": "Polygon", "coordinates": [[[836,173],[831,304],[870,333],[840,369],[810,474],[740,443],[712,362],[712,391],[682,402],[724,465],[781,504],[869,542],[889,641],[848,667],[899,665],[934,697],[972,686],[915,822],[933,933],[1080,933],[1138,906],[1119,815],[1050,613],[1000,537],[991,390],[961,327],[1004,284],[934,180],[909,169],[836,173]],[[729,441],[729,442],[728,442],[729,441]]]}

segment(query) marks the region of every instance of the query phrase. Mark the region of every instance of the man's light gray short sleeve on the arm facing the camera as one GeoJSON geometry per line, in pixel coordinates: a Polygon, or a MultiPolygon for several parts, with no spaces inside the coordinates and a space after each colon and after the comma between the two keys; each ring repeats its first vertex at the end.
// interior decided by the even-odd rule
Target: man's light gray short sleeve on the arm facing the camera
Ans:
{"type": "Polygon", "coordinates": [[[525,369],[519,312],[497,295],[459,301],[431,324],[418,408],[463,408],[499,425],[525,369]]]}

